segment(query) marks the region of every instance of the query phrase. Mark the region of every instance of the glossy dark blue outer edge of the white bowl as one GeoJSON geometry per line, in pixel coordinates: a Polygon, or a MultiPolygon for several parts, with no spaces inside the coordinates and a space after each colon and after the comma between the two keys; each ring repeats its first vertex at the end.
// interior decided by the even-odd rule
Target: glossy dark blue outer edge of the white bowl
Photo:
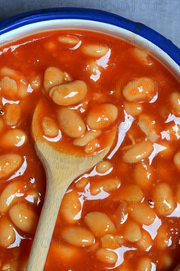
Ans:
{"type": "Polygon", "coordinates": [[[0,35],[28,24],[57,19],[90,20],[118,26],[151,41],[180,66],[180,49],[171,40],[142,23],[133,22],[119,15],[97,9],[64,7],[25,12],[1,21],[0,35]]]}

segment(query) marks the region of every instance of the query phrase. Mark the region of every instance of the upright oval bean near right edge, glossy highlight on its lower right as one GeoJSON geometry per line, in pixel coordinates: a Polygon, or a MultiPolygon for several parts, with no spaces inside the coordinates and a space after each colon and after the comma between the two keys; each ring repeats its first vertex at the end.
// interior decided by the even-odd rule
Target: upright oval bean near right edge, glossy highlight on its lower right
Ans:
{"type": "Polygon", "coordinates": [[[157,183],[152,193],[152,198],[156,203],[155,210],[158,215],[169,215],[176,207],[172,190],[167,183],[157,183]]]}

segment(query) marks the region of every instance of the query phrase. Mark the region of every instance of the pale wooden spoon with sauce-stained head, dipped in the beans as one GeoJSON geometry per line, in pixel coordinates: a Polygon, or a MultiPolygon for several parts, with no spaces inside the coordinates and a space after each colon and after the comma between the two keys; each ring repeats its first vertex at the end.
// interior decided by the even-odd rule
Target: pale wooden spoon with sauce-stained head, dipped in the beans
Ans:
{"type": "MultiPolygon", "coordinates": [[[[33,120],[39,119],[41,114],[41,101],[38,102],[33,120]]],[[[107,147],[96,155],[77,156],[67,153],[56,144],[56,150],[50,146],[48,141],[42,137],[40,126],[31,129],[32,137],[35,141],[37,156],[42,162],[46,172],[46,195],[41,215],[37,225],[35,237],[32,243],[27,271],[43,271],[51,238],[56,224],[60,203],[70,183],[79,175],[94,167],[103,159],[115,140],[116,132],[109,138],[107,147]],[[64,167],[60,163],[65,162],[64,167]],[[57,163],[59,162],[59,163],[57,163]],[[57,166],[58,165],[58,166],[57,166]],[[57,200],[59,204],[57,204],[57,200]]]]}

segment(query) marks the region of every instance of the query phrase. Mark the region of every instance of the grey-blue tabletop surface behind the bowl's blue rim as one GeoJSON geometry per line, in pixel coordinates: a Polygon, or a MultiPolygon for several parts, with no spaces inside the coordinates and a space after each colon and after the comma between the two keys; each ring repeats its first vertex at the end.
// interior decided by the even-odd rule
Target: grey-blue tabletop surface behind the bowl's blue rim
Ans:
{"type": "Polygon", "coordinates": [[[180,0],[0,0],[0,20],[53,7],[109,11],[149,26],[180,48],[180,0]]]}

